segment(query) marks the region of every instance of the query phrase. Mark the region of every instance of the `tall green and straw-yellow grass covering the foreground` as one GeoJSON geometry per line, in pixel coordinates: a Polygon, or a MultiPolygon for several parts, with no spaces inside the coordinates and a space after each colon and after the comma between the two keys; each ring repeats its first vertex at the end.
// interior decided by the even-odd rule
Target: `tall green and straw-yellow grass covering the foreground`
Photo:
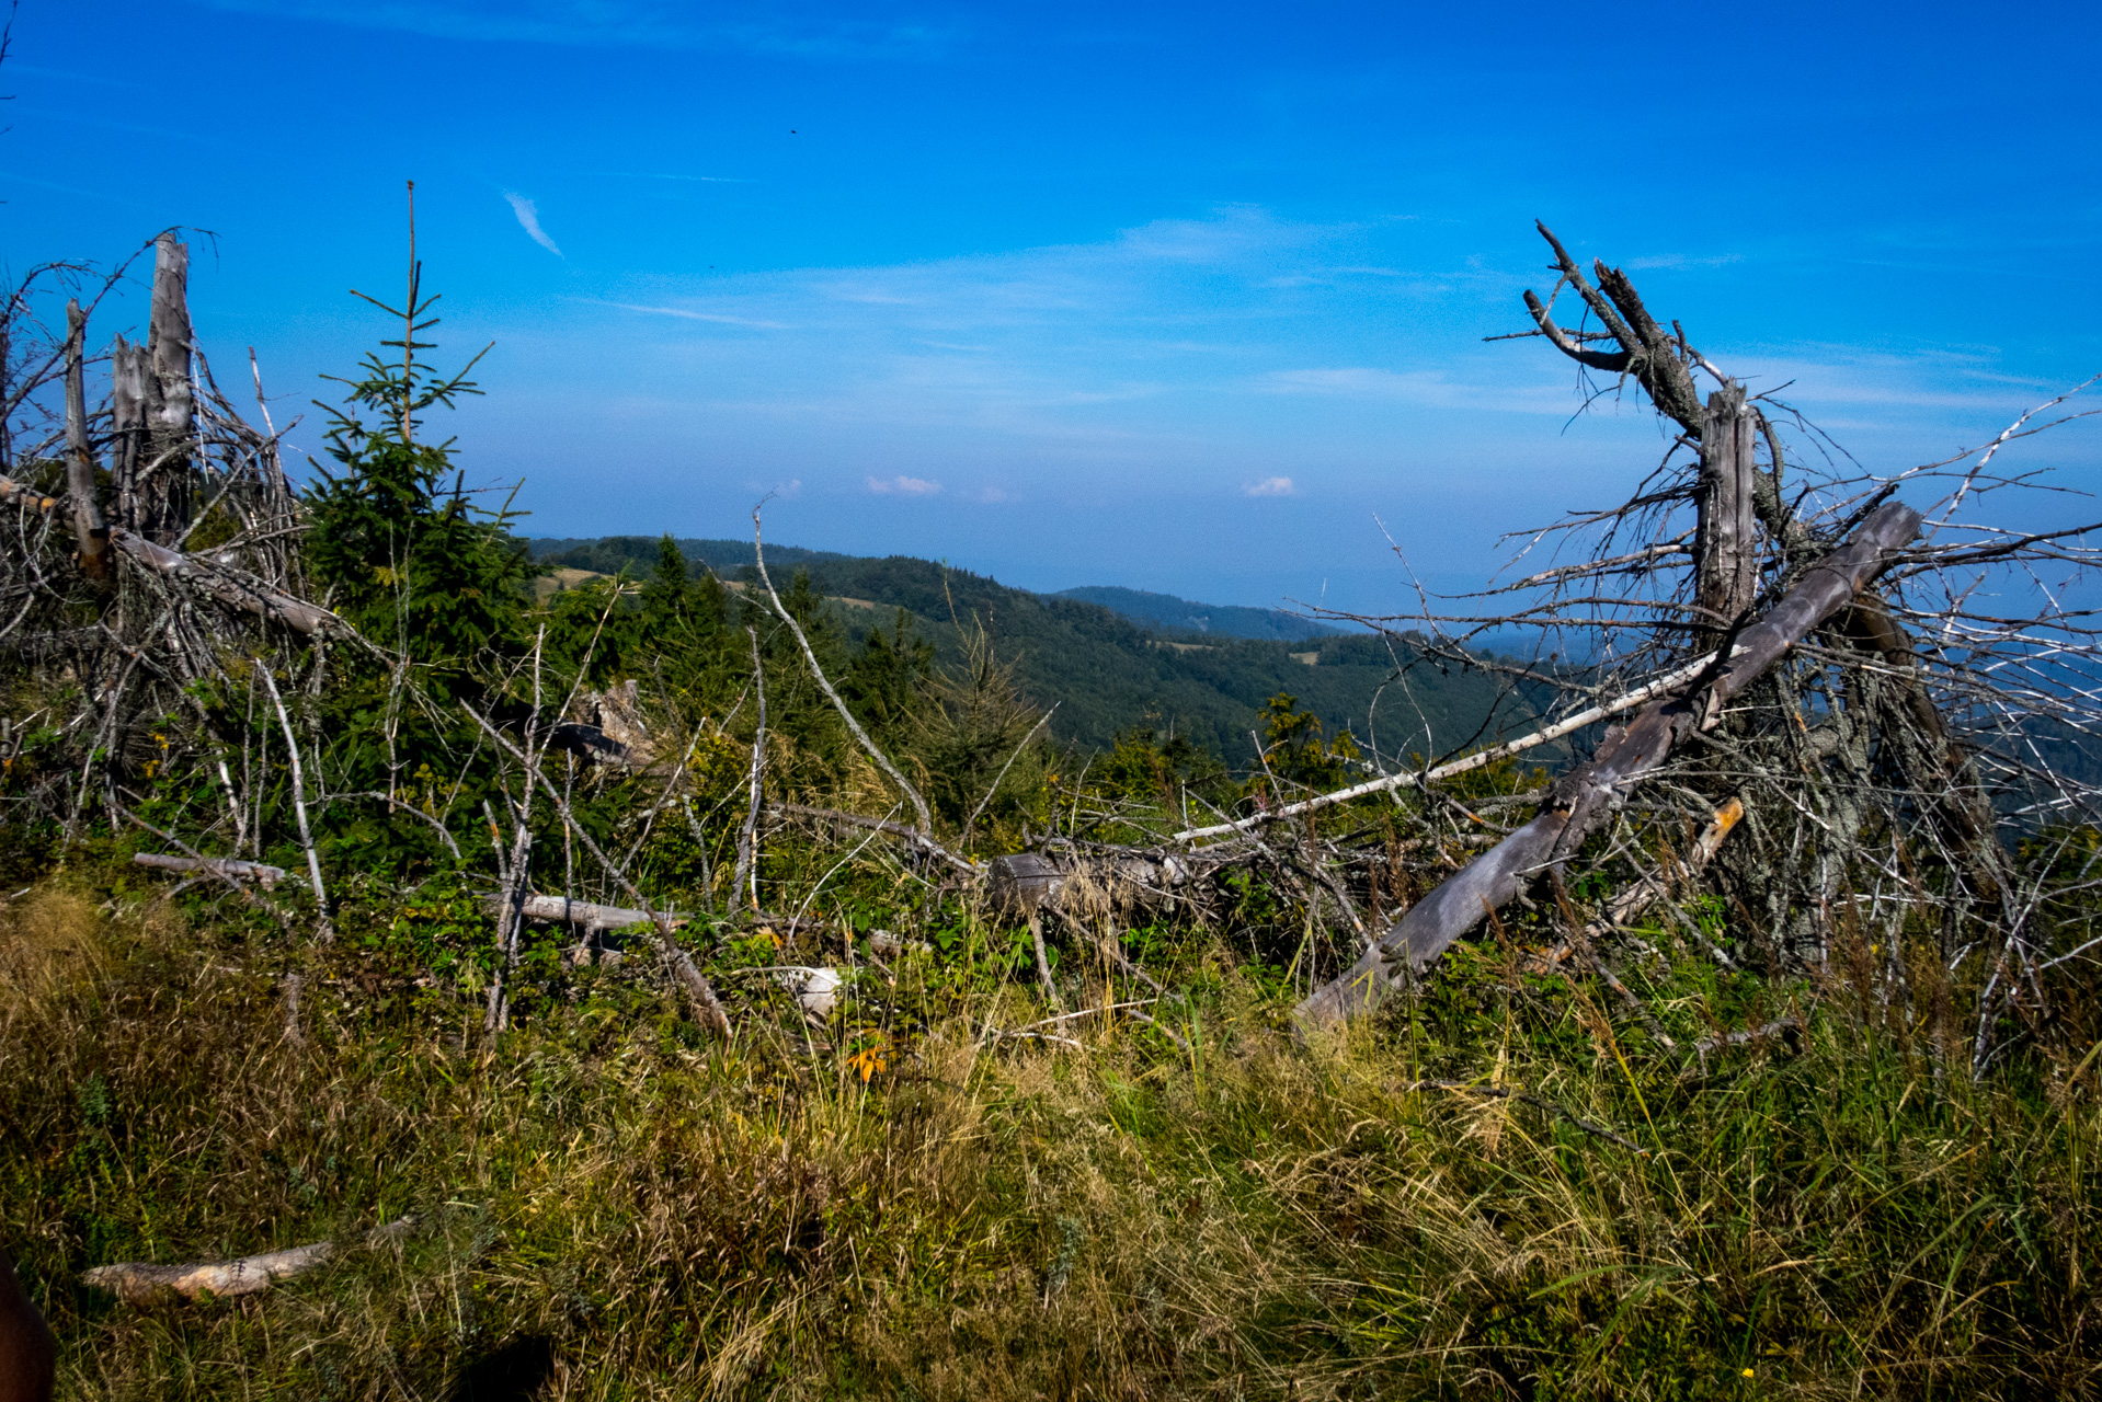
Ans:
{"type": "MultiPolygon", "coordinates": [[[[1974,1085],[1825,990],[1795,1049],[1701,1074],[1497,946],[1301,1045],[1204,931],[1150,946],[1190,1053],[1104,1019],[980,1047],[1047,1015],[982,933],[811,1040],[748,977],[706,1043],[639,961],[483,1038],[471,963],[46,881],[0,906],[0,1202],[61,1396],[2098,1391],[2096,1057],[1974,1085]],[[347,1251],[240,1301],[74,1284],[317,1238],[347,1251]]],[[[1085,963],[1070,1007],[1129,996],[1085,963]]],[[[1682,1038],[1818,992],[1652,975],[1682,1038]]]]}

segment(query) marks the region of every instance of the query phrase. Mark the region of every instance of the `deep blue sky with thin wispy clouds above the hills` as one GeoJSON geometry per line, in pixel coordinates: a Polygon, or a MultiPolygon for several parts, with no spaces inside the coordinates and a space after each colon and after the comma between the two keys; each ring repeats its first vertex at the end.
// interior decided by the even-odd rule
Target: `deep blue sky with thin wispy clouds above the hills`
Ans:
{"type": "MultiPolygon", "coordinates": [[[[471,479],[1032,589],[1404,607],[1625,494],[1532,219],[1862,462],[2102,370],[2102,11],[23,0],[8,265],[193,238],[280,420],[416,179],[471,479]],[[1326,595],[1322,593],[1326,591],[1326,595]]],[[[139,303],[97,332],[126,330],[139,303]]],[[[225,378],[225,376],[223,376],[225,378]]],[[[309,410],[292,441],[317,450],[309,410]]],[[[2098,486],[2094,429],[2026,448],[2098,486]]]]}

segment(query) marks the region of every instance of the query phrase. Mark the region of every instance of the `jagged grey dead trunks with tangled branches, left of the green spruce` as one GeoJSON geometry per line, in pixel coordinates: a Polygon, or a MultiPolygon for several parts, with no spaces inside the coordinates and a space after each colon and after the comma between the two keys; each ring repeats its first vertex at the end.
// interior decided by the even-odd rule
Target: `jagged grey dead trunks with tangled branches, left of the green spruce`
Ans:
{"type": "Polygon", "coordinates": [[[86,307],[80,296],[67,303],[65,336],[48,338],[48,355],[36,341],[34,288],[8,303],[0,647],[32,694],[57,702],[44,719],[61,738],[25,767],[34,778],[15,786],[11,818],[59,818],[69,832],[95,809],[130,822],[124,795],[174,757],[198,765],[202,792],[219,795],[223,811],[204,841],[238,862],[254,853],[259,790],[271,782],[263,752],[275,748],[282,774],[296,736],[284,723],[284,742],[250,752],[214,727],[200,685],[227,685],[250,666],[311,679],[322,643],[351,631],[305,597],[303,511],[277,433],[248,425],[193,343],[187,248],[174,233],[151,248],[149,336],[143,347],[111,341],[101,410],[90,412],[86,395],[101,362],[90,322],[128,265],[86,307]],[[40,422],[55,429],[40,435],[40,422]],[[59,441],[53,471],[48,448],[59,441]],[[170,736],[179,727],[168,717],[193,721],[181,729],[195,752],[170,736]]]}

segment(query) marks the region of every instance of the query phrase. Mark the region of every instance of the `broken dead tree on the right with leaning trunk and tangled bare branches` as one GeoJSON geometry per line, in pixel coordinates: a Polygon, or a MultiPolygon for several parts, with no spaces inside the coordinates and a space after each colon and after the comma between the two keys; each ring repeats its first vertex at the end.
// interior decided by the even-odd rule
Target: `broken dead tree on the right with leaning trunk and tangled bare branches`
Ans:
{"type": "MultiPolygon", "coordinates": [[[[1539,818],[1408,910],[1301,1013],[1328,1022],[1373,1007],[1534,879],[1576,860],[1581,841],[1614,826],[1646,778],[1654,805],[1690,820],[1743,801],[1747,837],[1711,872],[1782,963],[1822,963],[1841,925],[1867,921],[1890,931],[1930,921],[1951,965],[1997,946],[1978,1009],[1982,1068],[1995,1022],[2018,1005],[2033,1015],[2043,1001],[2041,956],[2022,923],[2035,902],[2014,889],[2007,820],[2018,809],[2031,822],[2096,811],[2094,790],[2033,763],[2039,727],[2075,740],[2098,734],[2085,616],[2058,607],[2049,589],[2022,618],[1967,603],[1984,574],[2043,584],[2045,568],[2094,570],[2085,536],[2096,528],[2020,534],[1955,523],[1982,494],[2031,486],[1993,460],[2049,422],[2039,422],[2041,410],[2024,414],[1984,452],[1896,479],[1825,473],[1797,488],[1780,427],[1799,416],[1749,395],[1677,324],[1667,332],[1625,273],[1600,261],[1587,277],[1553,233],[1541,227],[1541,235],[1558,282],[1545,301],[1526,292],[1534,328],[1520,334],[1547,338],[1583,372],[1633,380],[1673,425],[1673,452],[1623,507],[1524,536],[1526,551],[1585,536],[1589,557],[1490,591],[1516,597],[1516,610],[1425,610],[1406,624],[1427,624],[1444,639],[1434,654],[1463,664],[1471,658],[1459,643],[1482,633],[1513,624],[1581,633],[1595,666],[1532,677],[1593,717],[1604,698],[1642,689],[1644,673],[1698,675],[1625,729],[1608,727],[1593,759],[1547,792],[1539,818]],[[1583,305],[1574,330],[1555,319],[1564,290],[1583,305]],[[1715,383],[1705,401],[1696,374],[1715,383]],[[1946,494],[1925,542],[1909,547],[1921,517],[1892,496],[1928,496],[1934,486],[1946,494]],[[1713,660],[1701,666],[1698,654],[1713,660]]],[[[1625,832],[1619,851],[1637,851],[1625,832]]]]}

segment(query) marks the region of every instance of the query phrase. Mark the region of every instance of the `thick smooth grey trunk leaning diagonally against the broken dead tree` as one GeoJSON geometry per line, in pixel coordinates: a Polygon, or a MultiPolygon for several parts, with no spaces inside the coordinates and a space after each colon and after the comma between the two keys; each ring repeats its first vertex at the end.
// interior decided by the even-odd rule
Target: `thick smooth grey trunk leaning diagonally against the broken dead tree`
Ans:
{"type": "Polygon", "coordinates": [[[1549,790],[1539,818],[1417,902],[1347,973],[1301,1003],[1297,1015],[1310,1024],[1333,1024],[1371,1011],[1387,990],[1429,967],[1537,874],[1568,860],[1585,837],[1612,818],[1627,788],[1656,769],[1684,736],[1711,727],[1726,702],[1852,603],[1919,532],[1919,513],[1904,502],[1877,507],[1848,544],[1736,635],[1719,675],[1694,679],[1686,689],[1650,702],[1627,729],[1608,731],[1591,761],[1549,790]]]}

